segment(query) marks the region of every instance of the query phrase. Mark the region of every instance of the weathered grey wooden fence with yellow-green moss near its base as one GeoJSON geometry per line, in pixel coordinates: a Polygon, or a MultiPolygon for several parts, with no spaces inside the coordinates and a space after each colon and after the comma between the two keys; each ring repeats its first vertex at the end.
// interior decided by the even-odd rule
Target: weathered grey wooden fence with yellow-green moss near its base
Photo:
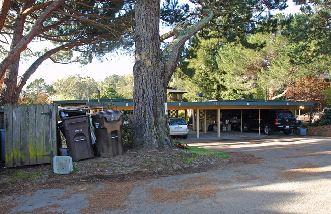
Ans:
{"type": "Polygon", "coordinates": [[[4,105],[6,167],[52,163],[58,105],[4,105]]]}

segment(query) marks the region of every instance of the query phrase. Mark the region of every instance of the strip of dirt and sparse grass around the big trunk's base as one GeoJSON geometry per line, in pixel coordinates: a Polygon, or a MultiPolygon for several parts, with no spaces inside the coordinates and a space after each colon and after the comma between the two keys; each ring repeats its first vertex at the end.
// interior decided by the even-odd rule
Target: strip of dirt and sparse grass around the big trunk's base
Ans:
{"type": "Polygon", "coordinates": [[[55,174],[52,166],[35,165],[0,169],[0,197],[39,189],[104,182],[136,182],[179,174],[209,171],[219,165],[261,161],[253,155],[227,153],[229,157],[198,155],[183,149],[132,150],[112,158],[94,157],[74,162],[69,174],[55,174]]]}

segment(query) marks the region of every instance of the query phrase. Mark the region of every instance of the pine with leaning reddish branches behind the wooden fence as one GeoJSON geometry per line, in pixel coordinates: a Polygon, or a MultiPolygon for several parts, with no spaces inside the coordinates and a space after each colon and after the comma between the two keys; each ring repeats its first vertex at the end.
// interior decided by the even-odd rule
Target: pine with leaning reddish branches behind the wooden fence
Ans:
{"type": "Polygon", "coordinates": [[[118,47],[131,47],[133,24],[129,3],[132,2],[10,1],[7,18],[0,32],[3,44],[10,43],[10,47],[1,48],[0,52],[4,53],[0,63],[0,76],[4,77],[0,104],[17,102],[27,79],[46,59],[86,64],[92,61],[93,56],[99,58],[118,47]],[[45,40],[52,42],[54,48],[33,53],[37,59],[18,78],[22,53],[30,42],[45,40]],[[73,59],[72,51],[80,53],[80,56],[73,59]]]}

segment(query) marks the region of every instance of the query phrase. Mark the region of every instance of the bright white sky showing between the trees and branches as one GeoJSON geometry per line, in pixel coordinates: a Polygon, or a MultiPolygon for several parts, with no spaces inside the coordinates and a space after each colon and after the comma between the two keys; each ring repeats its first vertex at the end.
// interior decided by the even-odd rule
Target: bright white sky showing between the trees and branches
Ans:
{"type": "MultiPolygon", "coordinates": [[[[185,0],[179,0],[179,2],[184,2],[185,0]]],[[[186,2],[186,1],[185,1],[186,2]]],[[[289,7],[281,11],[282,13],[297,13],[299,12],[299,7],[294,6],[292,0],[289,0],[289,7]]],[[[164,34],[168,29],[160,29],[160,34],[164,34]]],[[[41,43],[37,44],[43,45],[41,43]]],[[[38,47],[40,49],[40,47],[38,47]]],[[[19,75],[22,75],[24,71],[31,65],[31,61],[22,62],[19,66],[19,75]]],[[[103,62],[93,59],[92,63],[81,67],[80,64],[59,64],[53,63],[51,60],[44,61],[38,69],[31,75],[27,81],[23,90],[35,79],[43,78],[48,84],[52,84],[58,79],[67,78],[68,76],[73,76],[79,74],[81,77],[89,76],[95,81],[103,81],[106,77],[113,74],[116,75],[128,75],[133,72],[134,65],[134,55],[118,55],[113,59],[104,60],[103,62]]]]}

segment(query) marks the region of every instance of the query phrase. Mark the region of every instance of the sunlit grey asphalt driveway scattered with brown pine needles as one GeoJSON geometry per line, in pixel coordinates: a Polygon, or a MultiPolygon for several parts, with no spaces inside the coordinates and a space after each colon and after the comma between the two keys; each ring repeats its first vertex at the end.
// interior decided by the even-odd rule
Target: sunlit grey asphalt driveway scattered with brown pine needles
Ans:
{"type": "Polygon", "coordinates": [[[292,133],[187,142],[251,154],[256,162],[125,186],[39,190],[13,199],[12,213],[91,213],[95,206],[100,213],[331,213],[330,137],[292,133]]]}

